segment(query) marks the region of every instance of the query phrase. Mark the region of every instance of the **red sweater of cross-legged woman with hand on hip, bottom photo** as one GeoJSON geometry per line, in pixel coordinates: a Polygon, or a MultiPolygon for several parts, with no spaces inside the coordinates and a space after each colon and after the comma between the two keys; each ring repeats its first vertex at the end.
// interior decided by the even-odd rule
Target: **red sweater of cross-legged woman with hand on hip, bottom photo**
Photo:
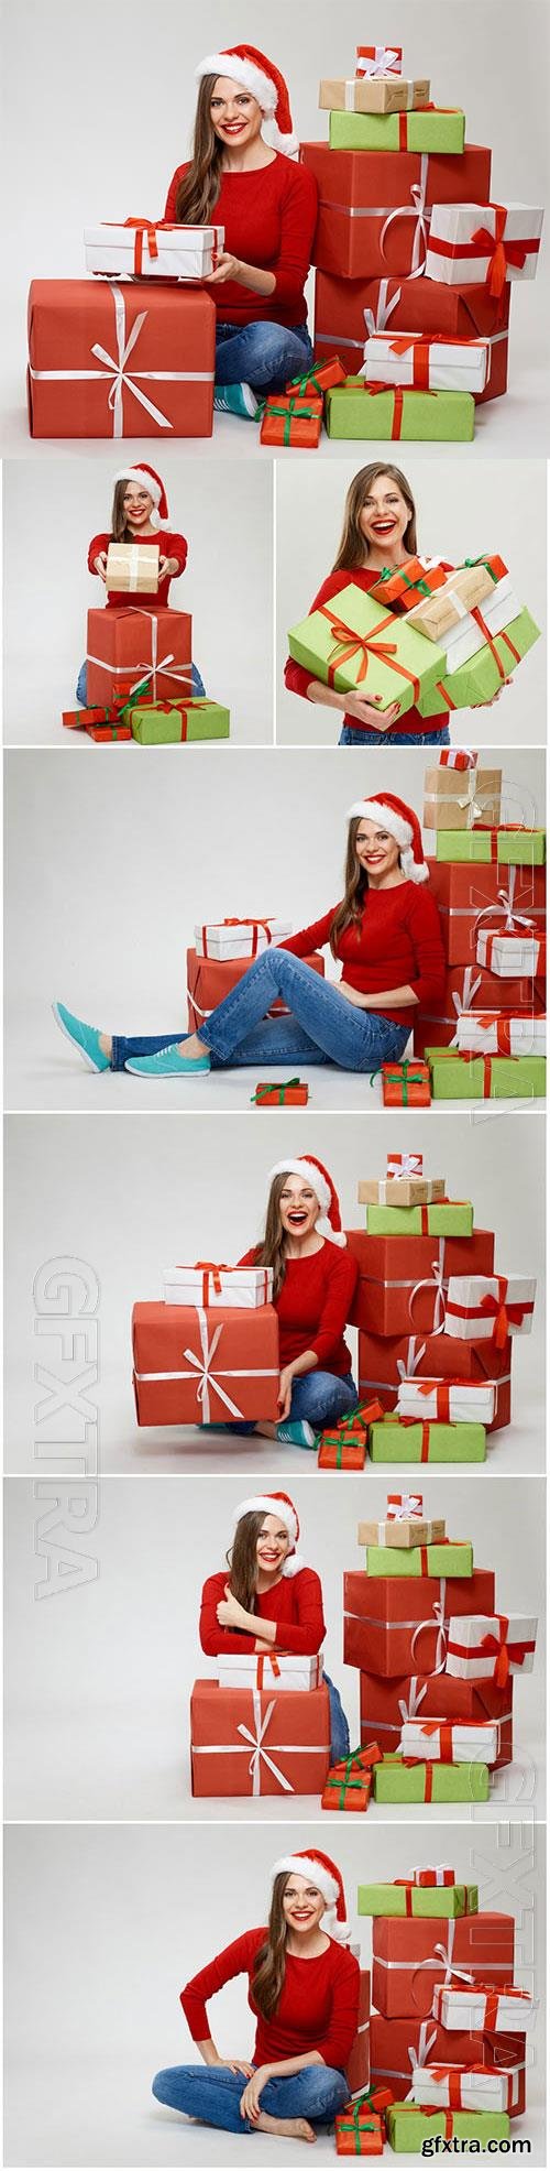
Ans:
{"type": "Polygon", "coordinates": [[[318,1954],[318,1960],[299,1960],[288,1954],[277,2013],[264,2021],[251,1991],[253,1963],[264,1939],[266,1930],[245,1930],[210,1960],[210,1967],[201,1967],[186,1982],[182,2006],[193,2041],[210,2041],[208,1997],[223,1991],[223,1984],[232,1982],[234,1976],[249,1976],[249,2008],[258,2019],[253,2062],[277,2065],[284,2058],[303,2058],[307,2049],[318,2049],[323,2065],[344,2071],[357,2034],[359,1963],[346,1945],[336,1945],[333,1939],[329,1939],[327,1952],[318,1954]]]}

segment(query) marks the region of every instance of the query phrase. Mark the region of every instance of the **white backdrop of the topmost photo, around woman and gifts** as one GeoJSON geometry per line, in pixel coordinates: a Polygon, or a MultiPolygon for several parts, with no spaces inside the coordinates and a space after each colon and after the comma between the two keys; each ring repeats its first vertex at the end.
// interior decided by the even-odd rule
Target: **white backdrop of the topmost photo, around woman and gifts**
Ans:
{"type": "MultiPolygon", "coordinates": [[[[368,35],[388,37],[381,0],[368,13],[368,35]]],[[[30,278],[82,278],[82,230],[89,221],[128,213],[158,215],[175,165],[188,154],[195,113],[193,72],[201,54],[227,48],[232,37],[260,41],[284,69],[301,139],[327,141],[318,113],[318,78],[353,74],[355,43],[364,37],[357,0],[318,0],[297,9],[279,0],[240,0],[238,28],[223,0],[201,15],[165,0],[160,28],[152,30],[149,0],[95,0],[93,30],[71,0],[19,0],[4,24],[4,198],[17,174],[4,237],[4,291],[11,295],[4,328],[4,449],[30,449],[26,434],[26,291],[30,278]],[[312,37],[314,22],[314,37],[312,37]],[[32,69],[28,67],[32,56],[32,69]],[[108,65],[106,65],[108,56],[108,65]],[[52,152],[56,152],[52,156],[52,152]]],[[[392,37],[403,43],[409,74],[431,76],[440,104],[463,104],[468,141],[494,145],[496,202],[548,202],[548,11],[528,0],[518,24],[515,0],[394,0],[392,37]]],[[[312,321],[312,302],[310,302],[312,321]]],[[[511,393],[479,410],[474,445],[457,445],[455,465],[481,452],[546,454],[548,417],[548,239],[535,282],[511,297],[511,393]]],[[[139,441],[132,452],[139,452],[139,441]]],[[[158,439],[149,441],[152,447],[158,439]]],[[[236,456],[262,458],[258,430],[217,417],[214,443],[236,456]]],[[[32,458],[67,456],[54,441],[35,441],[32,458]]],[[[113,447],[87,445],[89,460],[110,458],[113,447]]],[[[323,439],[336,458],[340,445],[323,439]]],[[[188,441],[195,460],[208,456],[204,439],[188,441]]],[[[424,447],[440,458],[440,445],[424,447]]]]}

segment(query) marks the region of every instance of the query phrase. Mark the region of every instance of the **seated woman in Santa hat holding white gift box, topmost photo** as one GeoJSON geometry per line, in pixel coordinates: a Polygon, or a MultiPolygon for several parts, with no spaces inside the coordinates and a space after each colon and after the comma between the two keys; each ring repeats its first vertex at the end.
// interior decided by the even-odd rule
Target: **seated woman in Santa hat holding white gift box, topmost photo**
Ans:
{"type": "Polygon", "coordinates": [[[264,393],[303,376],[314,358],[303,287],[316,185],[292,163],[288,89],[264,52],[212,52],[197,80],[193,158],[173,174],[165,217],[225,228],[223,254],[204,280],[217,304],[214,408],[256,421],[264,393]]]}

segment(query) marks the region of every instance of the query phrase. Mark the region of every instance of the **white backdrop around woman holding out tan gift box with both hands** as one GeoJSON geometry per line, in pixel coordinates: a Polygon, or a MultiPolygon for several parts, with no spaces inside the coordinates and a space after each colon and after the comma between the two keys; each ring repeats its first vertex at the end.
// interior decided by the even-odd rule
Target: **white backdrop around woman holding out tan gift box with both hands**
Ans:
{"type": "MultiPolygon", "coordinates": [[[[193,614],[193,660],[206,693],[230,708],[232,740],[273,738],[273,475],[232,460],[199,469],[180,452],[149,445],[143,458],[162,475],[169,528],[188,541],[171,610],[193,614]]],[[[50,467],[9,460],[4,469],[4,740],[52,742],[100,753],[87,732],[65,732],[61,710],[76,708],[76,677],[87,653],[87,612],[102,610],[104,584],[89,573],[93,534],[110,530],[113,475],[126,445],[93,469],[78,458],[56,478],[50,467]]],[[[136,595],[136,604],[141,597],[136,595]]],[[[139,749],[141,751],[141,749],[139,749]]],[[[221,751],[221,747],[217,747],[221,751]]],[[[126,753],[134,760],[132,747],[126,753]]]]}

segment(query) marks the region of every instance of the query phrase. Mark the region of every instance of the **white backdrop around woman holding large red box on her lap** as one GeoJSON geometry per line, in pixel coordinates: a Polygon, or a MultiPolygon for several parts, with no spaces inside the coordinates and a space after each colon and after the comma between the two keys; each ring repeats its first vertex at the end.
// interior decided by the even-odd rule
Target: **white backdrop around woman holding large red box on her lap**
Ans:
{"type": "MultiPolygon", "coordinates": [[[[102,1086],[102,1079],[97,1081],[102,1086]]],[[[173,1261],[227,1259],[236,1264],[260,1240],[269,1194],[269,1170],[286,1153],[314,1153],[329,1170],[340,1196],[342,1227],[366,1224],[357,1205],[359,1177],[383,1177],[388,1151],[422,1151],[427,1175],[446,1179],[450,1198],[472,1198],[479,1229],[496,1231],[498,1272],[537,1277],[537,1305],[531,1335],[513,1342],[513,1424],[489,1435],[487,1461],[468,1472],[472,1496],[502,1470],[544,1470],[544,1116],[518,1122],[505,1114],[505,1103],[481,1122],[463,1112],[459,1118],[429,1112],[392,1112],[336,1122],[310,1109],[249,1112],[249,1116],[195,1116],[152,1122],[149,1116],[126,1114],[6,1118],[6,1455],[11,1472],[80,1472],[71,1452],[80,1439],[74,1424],[71,1394],[67,1407],[54,1405],[48,1415],[48,1392],[37,1381],[37,1366],[52,1359],[56,1372],[58,1346],[45,1329],[35,1326],[32,1287],[43,1279],[56,1287],[56,1261],[67,1261],[63,1283],[71,1287],[71,1311],[80,1303],[78,1270],[82,1261],[97,1305],[93,1320],[100,1333],[100,1374],[89,1394],[97,1405],[100,1468],[104,1472],[236,1472],[245,1491],[249,1472],[279,1470],[281,1485],[294,1474],[312,1481],[312,1498],[325,1494],[325,1472],[316,1457],[299,1448],[273,1446],[260,1437],[232,1439],[227,1433],[201,1433],[193,1426],[139,1426],[132,1396],[130,1316],[134,1303],[162,1298],[162,1268],[173,1261]]],[[[39,1300],[37,1300],[39,1311],[39,1300]]],[[[56,1337],[58,1320],[52,1318],[56,1337]]],[[[84,1337],[87,1322],[76,1318],[84,1337]]],[[[349,1329],[353,1366],[357,1333],[349,1329]]],[[[80,1346],[80,1359],[91,1359],[91,1337],[80,1346]]],[[[52,1405],[50,1405],[52,1407],[52,1405]]],[[[87,1463],[84,1468],[91,1468],[87,1463]]],[[[411,1465],[407,1465],[409,1476],[411,1465]]],[[[450,1470],[429,1472],[431,1483],[446,1485],[450,1470]]],[[[381,1474],[370,1463],[357,1481],[364,1500],[381,1474]]],[[[418,1476],[418,1472],[416,1472],[418,1476]]],[[[392,1470],[388,1468],[388,1483],[392,1470]]],[[[340,1481],[346,1507],[346,1481],[340,1481]]]]}

